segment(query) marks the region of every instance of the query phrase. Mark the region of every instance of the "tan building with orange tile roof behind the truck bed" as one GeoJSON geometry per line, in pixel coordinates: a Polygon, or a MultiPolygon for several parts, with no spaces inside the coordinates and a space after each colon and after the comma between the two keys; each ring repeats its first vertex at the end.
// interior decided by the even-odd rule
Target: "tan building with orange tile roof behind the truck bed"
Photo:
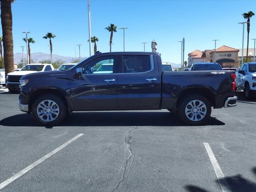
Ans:
{"type": "MultiPolygon", "coordinates": [[[[248,49],[248,51],[251,51],[251,49],[248,49]]],[[[238,52],[240,52],[239,49],[223,45],[216,49],[216,62],[222,67],[238,68],[241,61],[241,56],[238,54],[238,52]]],[[[246,57],[246,49],[244,49],[244,52],[244,57],[246,57]]],[[[250,57],[253,56],[250,55],[250,57]]],[[[194,50],[190,52],[188,54],[188,67],[195,62],[214,62],[214,50],[194,50]]]]}

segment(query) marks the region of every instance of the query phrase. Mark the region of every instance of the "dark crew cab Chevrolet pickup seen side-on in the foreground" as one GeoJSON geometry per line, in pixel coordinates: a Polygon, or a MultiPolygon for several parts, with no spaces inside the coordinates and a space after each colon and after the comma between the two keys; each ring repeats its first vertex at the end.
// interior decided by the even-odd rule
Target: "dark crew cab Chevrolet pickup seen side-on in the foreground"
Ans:
{"type": "Polygon", "coordinates": [[[162,72],[161,57],[152,52],[95,54],[66,71],[22,76],[20,86],[20,110],[44,126],[73,111],[159,109],[198,125],[212,107],[236,106],[237,99],[234,71],[162,72]],[[102,64],[113,64],[112,71],[92,72],[102,64]]]}

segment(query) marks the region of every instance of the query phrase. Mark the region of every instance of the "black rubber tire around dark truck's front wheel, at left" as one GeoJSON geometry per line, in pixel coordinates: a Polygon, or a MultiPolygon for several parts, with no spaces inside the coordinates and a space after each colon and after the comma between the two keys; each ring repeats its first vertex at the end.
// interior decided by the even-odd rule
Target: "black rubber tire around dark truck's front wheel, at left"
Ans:
{"type": "Polygon", "coordinates": [[[43,126],[56,126],[56,125],[60,124],[60,122],[62,122],[64,120],[64,118],[66,117],[67,106],[66,106],[66,103],[63,101],[63,99],[60,98],[59,96],[54,95],[54,94],[44,94],[34,100],[34,102],[32,104],[32,108],[31,108],[31,113],[32,113],[33,119],[36,122],[36,124],[40,124],[43,126]],[[51,101],[55,102],[59,108],[58,116],[56,117],[56,119],[54,119],[50,122],[46,122],[46,121],[42,120],[37,114],[37,107],[40,104],[40,102],[42,102],[44,100],[51,100],[51,101]]]}

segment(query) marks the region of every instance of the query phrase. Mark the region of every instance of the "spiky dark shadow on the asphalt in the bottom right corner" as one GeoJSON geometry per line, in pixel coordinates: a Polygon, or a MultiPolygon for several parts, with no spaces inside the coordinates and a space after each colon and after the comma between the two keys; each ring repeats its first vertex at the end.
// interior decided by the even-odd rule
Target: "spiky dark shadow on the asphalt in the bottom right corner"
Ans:
{"type": "MultiPolygon", "coordinates": [[[[253,167],[251,171],[256,176],[256,167],[253,167]]],[[[241,174],[226,177],[226,181],[228,182],[232,192],[256,192],[256,182],[242,177],[241,174]]],[[[218,180],[215,182],[218,183],[218,180]]],[[[220,182],[224,183],[222,180],[220,180],[220,182]]],[[[187,185],[185,188],[189,192],[210,192],[204,188],[200,188],[194,185],[187,185]]]]}

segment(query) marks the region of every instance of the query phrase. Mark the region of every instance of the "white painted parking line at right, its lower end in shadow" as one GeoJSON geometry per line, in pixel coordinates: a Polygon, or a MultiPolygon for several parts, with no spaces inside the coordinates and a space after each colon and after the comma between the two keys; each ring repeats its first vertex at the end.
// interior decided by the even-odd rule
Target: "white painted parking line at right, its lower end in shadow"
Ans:
{"type": "Polygon", "coordinates": [[[231,192],[228,182],[227,182],[227,180],[226,180],[226,178],[225,178],[225,176],[224,176],[224,174],[214,156],[214,153],[212,152],[212,148],[210,147],[210,145],[208,143],[205,143],[205,142],[204,142],[204,147],[205,147],[207,154],[210,158],[212,167],[213,167],[214,172],[218,178],[218,182],[220,184],[222,192],[231,192]]]}

